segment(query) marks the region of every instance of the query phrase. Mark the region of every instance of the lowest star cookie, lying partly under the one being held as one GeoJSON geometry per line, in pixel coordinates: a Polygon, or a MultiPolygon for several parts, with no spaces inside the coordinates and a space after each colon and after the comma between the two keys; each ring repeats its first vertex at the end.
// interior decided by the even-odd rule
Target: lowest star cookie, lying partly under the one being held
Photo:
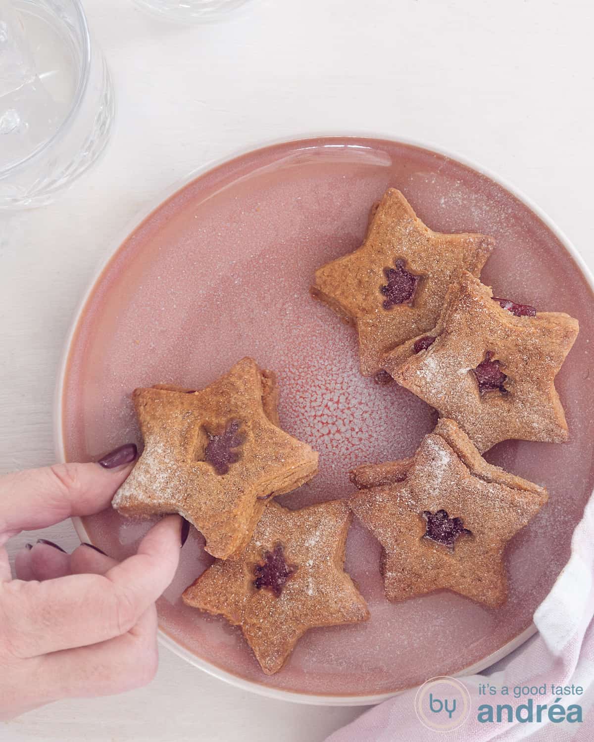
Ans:
{"type": "Polygon", "coordinates": [[[309,628],[369,617],[343,569],[351,520],[341,500],[301,510],[272,502],[244,553],[216,561],[183,601],[241,626],[264,672],[278,672],[309,628]]]}

